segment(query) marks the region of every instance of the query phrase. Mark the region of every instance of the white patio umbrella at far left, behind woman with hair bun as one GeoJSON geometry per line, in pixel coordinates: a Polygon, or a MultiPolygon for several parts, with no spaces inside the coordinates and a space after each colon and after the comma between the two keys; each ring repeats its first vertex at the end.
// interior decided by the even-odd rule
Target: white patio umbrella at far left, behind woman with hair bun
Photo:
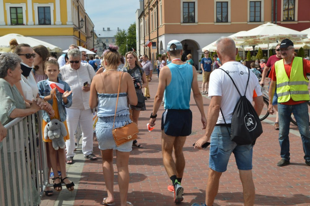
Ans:
{"type": "Polygon", "coordinates": [[[7,34],[4,35],[2,37],[0,37],[0,53],[1,52],[11,52],[10,49],[10,40],[15,38],[17,40],[17,43],[19,44],[29,44],[30,47],[35,47],[38,45],[43,45],[45,47],[47,47],[49,52],[61,52],[62,49],[60,47],[54,46],[50,43],[32,38],[32,37],[25,37],[23,35],[20,34],[7,34]]]}

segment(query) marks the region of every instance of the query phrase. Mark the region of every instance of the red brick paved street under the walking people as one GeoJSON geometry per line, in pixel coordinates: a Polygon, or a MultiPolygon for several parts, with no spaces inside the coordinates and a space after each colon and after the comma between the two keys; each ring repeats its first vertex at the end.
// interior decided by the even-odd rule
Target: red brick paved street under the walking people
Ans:
{"type": "MultiPolygon", "coordinates": [[[[198,79],[201,80],[198,74],[198,79]]],[[[161,154],[161,106],[158,112],[157,125],[152,132],[148,132],[150,113],[153,108],[153,98],[157,89],[157,74],[149,84],[151,99],[146,101],[147,110],[140,113],[139,143],[143,149],[133,148],[129,159],[130,183],[128,201],[135,206],[170,206],[173,203],[173,193],[167,190],[171,183],[162,163],[161,154]]],[[[201,85],[201,81],[199,81],[201,85]]],[[[207,113],[210,99],[204,95],[203,103],[207,113]]],[[[184,187],[184,201],[179,205],[191,205],[194,202],[204,203],[208,173],[209,148],[195,150],[192,144],[202,136],[200,113],[191,98],[193,112],[193,133],[187,138],[184,146],[186,166],[182,186],[184,187]]],[[[232,105],[233,107],[234,105],[232,105]]],[[[263,122],[263,135],[256,141],[253,153],[253,177],[256,188],[255,205],[310,205],[310,167],[303,159],[303,148],[296,126],[291,124],[290,153],[291,164],[277,167],[280,158],[278,131],[273,128],[275,115],[270,115],[263,122]]],[[[98,144],[94,141],[94,154],[99,155],[98,144]]],[[[68,165],[68,176],[76,183],[75,192],[70,193],[63,187],[58,195],[43,197],[41,205],[100,205],[106,197],[104,178],[102,174],[101,157],[97,161],[83,158],[81,148],[74,157],[75,163],[68,165]],[[81,172],[81,174],[80,174],[81,172]],[[80,178],[80,180],[79,180],[80,178]],[[77,184],[79,181],[79,184],[77,184]]],[[[117,185],[117,170],[115,173],[115,201],[119,205],[119,188],[117,185]]],[[[220,179],[219,193],[215,199],[215,206],[243,205],[242,186],[233,155],[228,163],[227,171],[220,179]]]]}

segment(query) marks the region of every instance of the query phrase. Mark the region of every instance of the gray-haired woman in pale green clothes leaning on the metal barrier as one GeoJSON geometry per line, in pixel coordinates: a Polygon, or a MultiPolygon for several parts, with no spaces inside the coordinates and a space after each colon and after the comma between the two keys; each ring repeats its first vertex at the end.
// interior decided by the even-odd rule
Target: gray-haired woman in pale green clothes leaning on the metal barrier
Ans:
{"type": "MultiPolygon", "coordinates": [[[[44,102],[38,98],[35,100],[32,100],[30,103],[24,101],[24,97],[20,94],[18,89],[16,88],[15,84],[21,80],[21,65],[20,65],[21,59],[17,54],[14,53],[3,53],[0,56],[0,94],[2,100],[0,101],[0,122],[5,125],[12,121],[16,117],[24,117],[28,116],[30,114],[36,113],[38,110],[43,108],[44,102]]],[[[13,131],[13,135],[10,138],[13,138],[13,141],[15,142],[16,138],[19,139],[26,139],[28,134],[28,128],[26,125],[26,122],[22,123],[23,125],[23,134],[24,136],[21,136],[20,133],[15,134],[15,131],[13,131]]],[[[10,147],[9,138],[4,138],[3,141],[0,139],[0,152],[1,152],[1,164],[2,169],[6,168],[7,165],[4,165],[4,154],[3,154],[3,142],[6,141],[7,143],[7,153],[8,156],[11,157],[11,153],[14,153],[14,159],[8,158],[8,164],[11,165],[13,162],[15,163],[15,169],[17,168],[23,168],[22,164],[26,162],[25,158],[23,158],[23,150],[24,145],[21,145],[21,141],[19,141],[19,150],[16,150],[17,146],[14,148],[10,147]],[[19,159],[19,161],[17,161],[19,159]]],[[[13,190],[13,178],[12,178],[12,167],[8,167],[9,171],[6,173],[6,170],[2,170],[2,177],[0,177],[2,180],[5,180],[7,178],[10,179],[10,185],[11,185],[11,197],[7,197],[7,190],[6,190],[6,181],[3,181],[4,184],[4,202],[5,205],[8,205],[8,198],[11,198],[11,202],[14,202],[14,196],[12,194],[17,194],[18,203],[17,205],[23,205],[26,202],[30,204],[30,199],[32,196],[33,204],[38,205],[40,204],[40,196],[38,195],[38,191],[35,189],[33,182],[31,182],[32,186],[32,192],[28,192],[28,196],[25,195],[25,193],[20,194],[20,190],[14,191],[13,190]],[[20,199],[22,198],[22,199],[20,199]]],[[[17,172],[17,171],[16,171],[17,172]]],[[[24,181],[24,173],[22,172],[21,176],[15,176],[14,182],[23,182],[24,181]]],[[[19,187],[23,187],[23,191],[30,190],[27,188],[27,186],[20,185],[19,187]]]]}

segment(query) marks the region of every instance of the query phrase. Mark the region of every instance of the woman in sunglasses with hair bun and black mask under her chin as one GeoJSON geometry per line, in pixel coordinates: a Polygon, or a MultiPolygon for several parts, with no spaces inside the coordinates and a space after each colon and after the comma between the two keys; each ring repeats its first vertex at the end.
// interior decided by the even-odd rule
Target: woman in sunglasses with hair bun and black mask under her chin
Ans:
{"type": "MultiPolygon", "coordinates": [[[[20,63],[22,75],[21,80],[15,83],[15,86],[19,90],[20,94],[24,97],[24,100],[28,103],[32,102],[32,99],[39,98],[39,89],[34,78],[34,74],[31,71],[33,69],[33,61],[36,56],[33,53],[33,49],[29,44],[18,44],[16,39],[10,41],[11,52],[17,54],[22,62],[20,63]]],[[[45,111],[51,116],[54,116],[54,110],[52,105],[45,102],[45,111]]]]}

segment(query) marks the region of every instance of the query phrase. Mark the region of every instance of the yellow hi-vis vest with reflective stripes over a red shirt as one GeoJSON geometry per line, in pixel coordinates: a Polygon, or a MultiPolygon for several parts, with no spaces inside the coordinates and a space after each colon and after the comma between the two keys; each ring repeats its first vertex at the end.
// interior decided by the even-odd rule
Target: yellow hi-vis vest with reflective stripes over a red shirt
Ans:
{"type": "Polygon", "coordinates": [[[284,69],[284,61],[279,60],[275,64],[277,76],[278,102],[287,102],[292,98],[294,101],[309,101],[309,79],[303,75],[303,58],[294,57],[290,79],[284,69]]]}

